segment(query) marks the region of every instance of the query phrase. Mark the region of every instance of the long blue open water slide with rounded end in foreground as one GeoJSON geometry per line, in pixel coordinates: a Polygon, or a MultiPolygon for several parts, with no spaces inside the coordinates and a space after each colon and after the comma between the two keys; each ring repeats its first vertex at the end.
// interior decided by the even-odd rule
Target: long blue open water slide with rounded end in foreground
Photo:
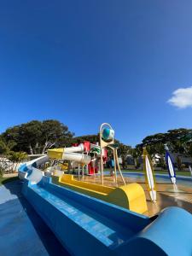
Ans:
{"type": "Polygon", "coordinates": [[[192,216],[181,208],[148,218],[36,177],[22,192],[72,255],[192,254],[192,216]]]}

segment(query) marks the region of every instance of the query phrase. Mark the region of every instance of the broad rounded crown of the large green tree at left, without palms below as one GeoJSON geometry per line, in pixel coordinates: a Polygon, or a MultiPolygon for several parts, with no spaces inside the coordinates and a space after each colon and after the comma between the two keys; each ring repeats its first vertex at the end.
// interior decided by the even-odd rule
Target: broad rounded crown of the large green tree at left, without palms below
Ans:
{"type": "Polygon", "coordinates": [[[32,120],[7,129],[2,137],[7,143],[15,142],[14,151],[44,154],[48,148],[64,147],[72,140],[73,132],[68,131],[67,125],[57,120],[32,120]]]}

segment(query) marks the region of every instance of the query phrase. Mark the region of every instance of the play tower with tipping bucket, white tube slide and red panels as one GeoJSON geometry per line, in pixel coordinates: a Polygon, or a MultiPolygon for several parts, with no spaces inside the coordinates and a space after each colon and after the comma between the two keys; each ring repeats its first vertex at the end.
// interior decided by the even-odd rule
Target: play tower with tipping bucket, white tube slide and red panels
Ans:
{"type": "Polygon", "coordinates": [[[75,144],[70,148],[54,148],[48,150],[48,156],[50,159],[55,160],[70,160],[79,164],[79,176],[80,166],[82,167],[82,176],[84,176],[84,166],[86,166],[86,174],[100,174],[102,185],[104,183],[104,172],[103,163],[108,159],[107,148],[110,148],[113,152],[113,173],[114,182],[117,182],[117,170],[119,175],[125,184],[125,179],[119,167],[119,160],[117,154],[118,144],[114,143],[114,130],[108,123],[103,123],[99,130],[100,145],[96,142],[95,144],[90,142],[84,142],[75,144]]]}

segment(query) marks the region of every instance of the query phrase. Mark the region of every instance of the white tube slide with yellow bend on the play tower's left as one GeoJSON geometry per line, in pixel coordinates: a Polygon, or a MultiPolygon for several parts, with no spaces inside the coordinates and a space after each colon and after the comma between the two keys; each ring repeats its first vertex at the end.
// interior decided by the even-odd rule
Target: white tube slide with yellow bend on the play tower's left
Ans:
{"type": "Polygon", "coordinates": [[[79,164],[88,165],[90,163],[90,155],[83,154],[83,152],[84,144],[79,144],[77,147],[49,149],[48,155],[50,158],[60,158],[62,160],[70,160],[79,164]],[[77,152],[82,152],[82,154],[77,152]]]}

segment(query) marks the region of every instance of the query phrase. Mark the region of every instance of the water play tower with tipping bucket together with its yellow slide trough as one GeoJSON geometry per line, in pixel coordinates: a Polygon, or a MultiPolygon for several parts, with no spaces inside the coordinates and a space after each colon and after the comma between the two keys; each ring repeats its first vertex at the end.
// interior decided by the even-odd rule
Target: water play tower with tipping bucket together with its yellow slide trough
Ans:
{"type": "MultiPolygon", "coordinates": [[[[103,160],[106,160],[107,147],[111,148],[113,151],[113,168],[115,177],[114,182],[116,186],[118,186],[118,168],[119,175],[123,183],[125,184],[125,179],[119,167],[117,145],[114,144],[114,131],[112,129],[112,126],[107,123],[102,124],[100,127],[100,146],[98,146],[97,144],[84,142],[71,148],[54,148],[48,150],[48,156],[50,159],[73,160],[81,164],[83,166],[82,178],[84,178],[84,165],[90,165],[91,160],[97,162],[97,166],[95,164],[94,166],[90,167],[94,168],[94,175],[96,174],[96,172],[98,173],[99,170],[102,184],[87,183],[79,180],[77,181],[73,178],[73,175],[66,174],[60,177],[53,176],[53,182],[68,189],[73,189],[75,191],[83,193],[84,195],[90,195],[103,201],[108,201],[110,203],[116,204],[120,207],[125,207],[134,212],[147,212],[148,208],[145,193],[141,185],[137,183],[131,183],[129,185],[125,184],[124,186],[121,186],[119,188],[110,188],[103,185],[103,160]],[[88,154],[90,152],[92,157],[88,154]],[[97,167],[99,168],[97,169],[97,167]]],[[[90,168],[88,168],[88,170],[90,170],[90,168]]],[[[80,175],[78,172],[78,177],[79,176],[80,175]]]]}

